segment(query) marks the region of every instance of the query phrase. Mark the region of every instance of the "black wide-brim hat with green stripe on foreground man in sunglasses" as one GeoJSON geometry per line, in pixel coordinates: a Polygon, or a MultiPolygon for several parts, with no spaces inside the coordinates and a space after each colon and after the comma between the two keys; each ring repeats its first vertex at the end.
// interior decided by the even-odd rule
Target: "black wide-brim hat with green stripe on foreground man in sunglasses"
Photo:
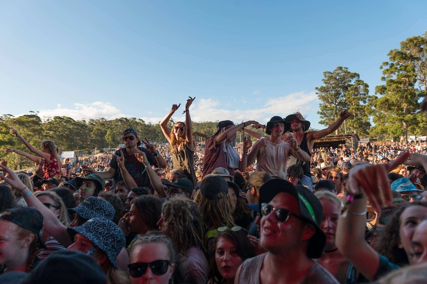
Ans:
{"type": "Polygon", "coordinates": [[[284,179],[274,178],[267,181],[260,188],[260,212],[262,203],[269,203],[281,192],[289,193],[298,200],[301,217],[307,222],[313,224],[316,228],[316,233],[309,241],[307,256],[310,258],[320,258],[326,244],[326,235],[320,229],[320,223],[323,217],[323,208],[319,199],[304,186],[294,186],[292,183],[284,179]]]}

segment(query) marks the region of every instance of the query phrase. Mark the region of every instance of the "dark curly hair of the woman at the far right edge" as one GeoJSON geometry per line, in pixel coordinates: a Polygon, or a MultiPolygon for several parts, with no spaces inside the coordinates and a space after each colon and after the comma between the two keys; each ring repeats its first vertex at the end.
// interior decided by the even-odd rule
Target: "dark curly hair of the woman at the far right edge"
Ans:
{"type": "Polygon", "coordinates": [[[398,246],[401,226],[400,216],[402,215],[403,211],[412,206],[427,207],[427,203],[416,201],[407,203],[397,208],[396,212],[394,212],[394,214],[391,215],[391,217],[388,219],[378,244],[378,253],[384,255],[391,262],[400,266],[409,264],[405,249],[399,248],[398,246]]]}

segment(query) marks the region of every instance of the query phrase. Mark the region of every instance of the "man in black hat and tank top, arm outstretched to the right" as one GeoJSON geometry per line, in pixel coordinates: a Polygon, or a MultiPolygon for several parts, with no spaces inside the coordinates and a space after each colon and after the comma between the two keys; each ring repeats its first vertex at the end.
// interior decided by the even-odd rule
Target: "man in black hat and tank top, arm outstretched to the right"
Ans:
{"type": "MultiPolygon", "coordinates": [[[[322,129],[320,131],[309,132],[305,131],[309,129],[310,122],[306,121],[300,113],[295,113],[293,115],[287,116],[285,118],[285,121],[291,124],[289,131],[293,132],[295,138],[298,141],[297,145],[299,145],[302,150],[304,150],[309,154],[309,156],[311,156],[315,140],[331,134],[333,131],[338,129],[342,122],[348,119],[348,117],[350,117],[350,113],[345,110],[341,112],[340,118],[336,122],[333,122],[331,125],[329,125],[327,128],[322,129]]],[[[302,184],[308,186],[310,190],[313,191],[310,165],[308,163],[302,164],[302,162],[297,162],[297,164],[301,165],[304,169],[304,177],[302,180],[302,184]]]]}

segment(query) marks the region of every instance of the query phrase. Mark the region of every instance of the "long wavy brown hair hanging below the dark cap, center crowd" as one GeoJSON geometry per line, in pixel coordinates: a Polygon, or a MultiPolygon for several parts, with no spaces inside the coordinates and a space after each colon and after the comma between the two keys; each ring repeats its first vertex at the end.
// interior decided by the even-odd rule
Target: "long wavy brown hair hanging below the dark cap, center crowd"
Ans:
{"type": "Polygon", "coordinates": [[[200,213],[208,229],[219,227],[233,227],[233,199],[227,194],[219,200],[210,200],[202,195],[200,190],[194,195],[194,202],[199,205],[200,213]]]}

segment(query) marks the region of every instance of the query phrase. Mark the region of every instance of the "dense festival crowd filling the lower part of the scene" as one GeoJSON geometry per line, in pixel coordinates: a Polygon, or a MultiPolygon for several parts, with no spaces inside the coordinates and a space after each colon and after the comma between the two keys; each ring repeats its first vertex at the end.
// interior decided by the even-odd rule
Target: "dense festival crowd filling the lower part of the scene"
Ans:
{"type": "Polygon", "coordinates": [[[168,143],[127,128],[77,161],[12,128],[32,154],[5,152],[35,170],[0,163],[0,283],[423,283],[426,142],[314,148],[344,111],[320,131],[299,113],[265,135],[221,121],[195,143],[193,100],[160,122],[168,143]]]}

